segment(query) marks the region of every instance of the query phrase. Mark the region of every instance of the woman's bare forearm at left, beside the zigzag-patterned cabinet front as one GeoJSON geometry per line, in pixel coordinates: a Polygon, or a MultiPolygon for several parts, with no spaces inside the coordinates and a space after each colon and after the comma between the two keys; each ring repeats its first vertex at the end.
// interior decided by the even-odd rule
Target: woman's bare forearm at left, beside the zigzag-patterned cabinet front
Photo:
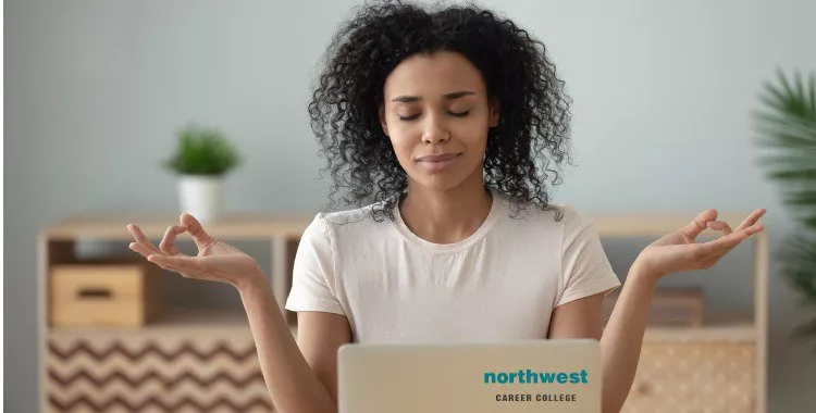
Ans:
{"type": "Polygon", "coordinates": [[[238,286],[238,292],[275,411],[336,412],[334,400],[300,353],[265,276],[252,277],[238,286]]]}

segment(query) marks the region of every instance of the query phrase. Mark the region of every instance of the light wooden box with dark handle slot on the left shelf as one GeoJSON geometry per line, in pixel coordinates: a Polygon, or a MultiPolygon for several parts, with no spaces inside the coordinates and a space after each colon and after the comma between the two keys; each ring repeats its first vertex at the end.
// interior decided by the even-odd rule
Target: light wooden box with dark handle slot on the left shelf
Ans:
{"type": "Polygon", "coordinates": [[[145,262],[83,262],[51,268],[53,326],[141,326],[161,316],[161,268],[145,262]]]}

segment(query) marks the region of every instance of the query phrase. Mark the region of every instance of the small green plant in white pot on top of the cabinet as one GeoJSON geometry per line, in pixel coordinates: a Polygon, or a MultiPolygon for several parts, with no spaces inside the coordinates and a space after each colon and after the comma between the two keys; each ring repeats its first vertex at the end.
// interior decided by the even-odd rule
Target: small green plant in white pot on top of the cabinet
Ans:
{"type": "Polygon", "coordinates": [[[219,128],[188,124],[176,137],[176,152],[164,165],[178,175],[182,212],[211,223],[221,214],[224,176],[242,159],[219,128]]]}

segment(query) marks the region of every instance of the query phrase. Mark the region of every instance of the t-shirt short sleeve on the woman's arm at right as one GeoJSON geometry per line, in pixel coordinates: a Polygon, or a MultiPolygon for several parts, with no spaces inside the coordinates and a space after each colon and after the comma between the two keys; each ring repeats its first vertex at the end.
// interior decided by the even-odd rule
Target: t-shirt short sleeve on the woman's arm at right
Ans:
{"type": "Polygon", "coordinates": [[[567,206],[561,250],[561,293],[555,306],[599,292],[608,295],[621,284],[601,245],[595,224],[567,206]]]}

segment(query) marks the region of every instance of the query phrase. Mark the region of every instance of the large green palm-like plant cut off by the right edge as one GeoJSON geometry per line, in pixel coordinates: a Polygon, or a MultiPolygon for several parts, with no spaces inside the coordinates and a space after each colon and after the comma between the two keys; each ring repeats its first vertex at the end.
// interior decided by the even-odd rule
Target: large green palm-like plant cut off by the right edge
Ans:
{"type": "MultiPolygon", "coordinates": [[[[767,177],[780,184],[782,201],[798,222],[778,251],[781,275],[802,293],[802,305],[816,310],[816,74],[803,78],[796,72],[789,78],[778,71],[759,100],[764,110],[755,113],[756,142],[775,151],[761,163],[769,168],[767,177]]],[[[816,339],[816,312],[793,336],[816,339]]]]}

